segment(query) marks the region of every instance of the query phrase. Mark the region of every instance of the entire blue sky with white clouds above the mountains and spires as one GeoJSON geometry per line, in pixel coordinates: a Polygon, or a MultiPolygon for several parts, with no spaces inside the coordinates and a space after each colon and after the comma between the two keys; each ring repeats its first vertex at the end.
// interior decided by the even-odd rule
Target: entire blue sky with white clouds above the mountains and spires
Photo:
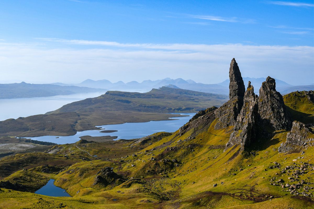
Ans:
{"type": "Polygon", "coordinates": [[[0,82],[314,83],[313,1],[0,1],[0,82]]]}

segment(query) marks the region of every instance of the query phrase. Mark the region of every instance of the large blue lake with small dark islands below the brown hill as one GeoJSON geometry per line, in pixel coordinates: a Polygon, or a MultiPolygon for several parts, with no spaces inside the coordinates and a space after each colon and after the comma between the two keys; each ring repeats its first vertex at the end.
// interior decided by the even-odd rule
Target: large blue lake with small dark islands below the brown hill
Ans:
{"type": "MultiPolygon", "coordinates": [[[[87,130],[77,132],[73,136],[40,136],[31,137],[30,139],[53,142],[57,144],[71,144],[80,140],[81,136],[117,136],[118,139],[133,139],[151,135],[156,132],[174,132],[187,123],[196,113],[171,113],[174,115],[172,119],[165,121],[149,121],[145,123],[123,123],[114,125],[96,126],[101,127],[100,130],[87,130]],[[175,117],[176,114],[187,115],[186,117],[175,117]],[[103,130],[116,130],[113,133],[101,133],[103,130]],[[56,138],[59,137],[59,138],[56,138]]],[[[29,138],[29,137],[25,137],[29,138]]]]}

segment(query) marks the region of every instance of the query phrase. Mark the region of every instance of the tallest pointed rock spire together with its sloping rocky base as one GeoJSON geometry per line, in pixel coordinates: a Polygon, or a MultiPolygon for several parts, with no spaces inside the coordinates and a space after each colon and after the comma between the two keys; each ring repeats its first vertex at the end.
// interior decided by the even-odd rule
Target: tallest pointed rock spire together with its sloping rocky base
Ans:
{"type": "Polygon", "coordinates": [[[215,111],[215,117],[219,118],[215,125],[215,129],[235,125],[237,117],[243,106],[245,86],[235,58],[233,58],[230,63],[229,78],[230,100],[215,111]]]}

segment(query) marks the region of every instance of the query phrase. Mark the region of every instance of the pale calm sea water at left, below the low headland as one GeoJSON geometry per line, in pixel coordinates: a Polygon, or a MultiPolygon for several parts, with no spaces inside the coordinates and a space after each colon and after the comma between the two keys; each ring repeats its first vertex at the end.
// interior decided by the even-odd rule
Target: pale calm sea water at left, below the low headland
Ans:
{"type": "Polygon", "coordinates": [[[0,99],[0,121],[9,118],[27,117],[56,110],[63,105],[86,98],[98,97],[103,92],[57,95],[52,97],[33,97],[0,99]]]}

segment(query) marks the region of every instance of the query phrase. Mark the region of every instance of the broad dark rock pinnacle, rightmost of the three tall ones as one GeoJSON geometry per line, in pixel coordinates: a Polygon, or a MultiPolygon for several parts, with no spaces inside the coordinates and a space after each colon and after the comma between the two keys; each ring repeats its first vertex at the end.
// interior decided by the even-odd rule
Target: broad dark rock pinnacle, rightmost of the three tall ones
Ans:
{"type": "Polygon", "coordinates": [[[261,124],[265,127],[273,130],[291,128],[291,117],[284,105],[284,99],[276,91],[275,79],[269,76],[259,90],[258,113],[261,124]]]}

